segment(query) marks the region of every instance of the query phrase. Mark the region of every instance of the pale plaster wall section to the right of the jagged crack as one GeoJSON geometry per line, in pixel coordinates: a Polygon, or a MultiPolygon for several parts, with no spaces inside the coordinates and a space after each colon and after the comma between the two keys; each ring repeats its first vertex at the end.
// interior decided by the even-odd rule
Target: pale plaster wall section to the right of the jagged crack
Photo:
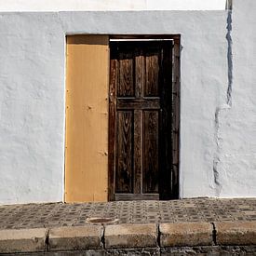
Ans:
{"type": "Polygon", "coordinates": [[[235,0],[232,105],[222,101],[218,130],[221,196],[256,196],[256,2],[235,0]]]}

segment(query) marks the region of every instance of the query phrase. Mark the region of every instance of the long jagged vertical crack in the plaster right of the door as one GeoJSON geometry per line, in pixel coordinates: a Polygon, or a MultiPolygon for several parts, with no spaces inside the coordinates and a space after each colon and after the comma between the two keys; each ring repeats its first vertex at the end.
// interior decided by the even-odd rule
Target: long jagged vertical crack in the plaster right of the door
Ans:
{"type": "Polygon", "coordinates": [[[216,151],[213,157],[213,183],[215,195],[220,196],[222,192],[222,182],[220,181],[219,164],[221,162],[222,147],[220,141],[220,114],[223,110],[229,110],[232,107],[232,86],[233,86],[233,53],[232,53],[232,6],[233,0],[227,0],[227,20],[226,20],[226,40],[227,40],[227,68],[228,68],[228,86],[226,91],[226,102],[221,107],[217,107],[215,111],[215,133],[214,139],[216,143],[216,151]]]}

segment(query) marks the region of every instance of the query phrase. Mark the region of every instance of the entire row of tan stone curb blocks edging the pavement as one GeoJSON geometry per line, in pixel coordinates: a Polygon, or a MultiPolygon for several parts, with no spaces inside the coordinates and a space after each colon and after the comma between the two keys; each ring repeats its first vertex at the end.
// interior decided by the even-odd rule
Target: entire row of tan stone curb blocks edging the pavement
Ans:
{"type": "MultiPolygon", "coordinates": [[[[0,230],[1,253],[256,245],[256,222],[85,225],[0,230]],[[215,227],[215,228],[213,228],[215,227]],[[215,234],[216,233],[216,234],[215,234]]],[[[213,248],[213,247],[212,247],[213,248]]]]}

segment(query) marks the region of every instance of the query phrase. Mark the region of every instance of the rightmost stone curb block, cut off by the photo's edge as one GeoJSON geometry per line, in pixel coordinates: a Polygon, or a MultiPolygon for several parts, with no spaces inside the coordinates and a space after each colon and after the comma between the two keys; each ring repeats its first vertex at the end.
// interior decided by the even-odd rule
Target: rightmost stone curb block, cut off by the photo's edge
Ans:
{"type": "Polygon", "coordinates": [[[256,222],[215,222],[218,245],[256,245],[256,222]]]}

